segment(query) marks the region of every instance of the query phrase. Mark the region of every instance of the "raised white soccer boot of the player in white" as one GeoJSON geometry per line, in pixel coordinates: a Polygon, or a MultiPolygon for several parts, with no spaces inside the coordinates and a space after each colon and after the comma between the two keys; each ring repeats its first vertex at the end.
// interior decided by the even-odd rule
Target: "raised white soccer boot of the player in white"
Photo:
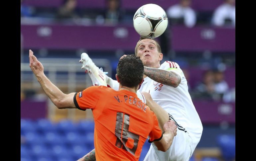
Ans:
{"type": "Polygon", "coordinates": [[[85,69],[85,73],[89,74],[93,86],[107,86],[106,74],[93,63],[88,54],[83,52],[79,62],[83,64],[82,69],[85,69]]]}

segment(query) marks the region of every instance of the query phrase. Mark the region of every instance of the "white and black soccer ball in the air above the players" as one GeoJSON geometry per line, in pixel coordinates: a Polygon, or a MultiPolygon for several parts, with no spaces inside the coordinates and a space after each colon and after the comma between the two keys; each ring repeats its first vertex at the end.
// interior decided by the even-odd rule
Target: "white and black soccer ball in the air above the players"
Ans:
{"type": "Polygon", "coordinates": [[[156,4],[141,6],[133,17],[136,32],[144,38],[157,38],[162,35],[168,25],[165,10],[156,4]]]}

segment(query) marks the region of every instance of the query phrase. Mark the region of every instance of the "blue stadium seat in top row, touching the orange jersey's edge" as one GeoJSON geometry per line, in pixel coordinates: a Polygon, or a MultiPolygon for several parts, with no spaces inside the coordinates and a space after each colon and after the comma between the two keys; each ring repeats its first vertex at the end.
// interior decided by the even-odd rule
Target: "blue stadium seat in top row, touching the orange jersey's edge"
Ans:
{"type": "Polygon", "coordinates": [[[76,126],[80,133],[94,132],[94,121],[92,120],[80,120],[76,126]]]}

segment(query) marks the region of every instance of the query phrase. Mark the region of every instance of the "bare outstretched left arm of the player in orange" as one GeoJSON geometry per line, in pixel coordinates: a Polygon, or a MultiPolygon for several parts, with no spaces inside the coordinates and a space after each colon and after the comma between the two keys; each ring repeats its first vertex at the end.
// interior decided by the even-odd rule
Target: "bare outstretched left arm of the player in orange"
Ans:
{"type": "Polygon", "coordinates": [[[58,87],[56,87],[45,75],[44,66],[37,57],[33,55],[33,51],[29,50],[30,68],[37,77],[46,95],[51,99],[55,106],[59,109],[76,108],[73,97],[75,93],[64,94],[58,87]]]}

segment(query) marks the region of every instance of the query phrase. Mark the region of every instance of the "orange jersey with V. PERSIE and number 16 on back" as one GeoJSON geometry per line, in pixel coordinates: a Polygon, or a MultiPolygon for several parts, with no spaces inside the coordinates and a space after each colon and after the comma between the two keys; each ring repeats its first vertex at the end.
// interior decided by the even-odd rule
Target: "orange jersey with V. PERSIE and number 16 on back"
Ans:
{"type": "Polygon", "coordinates": [[[75,106],[91,109],[97,161],[138,161],[142,146],[163,136],[156,115],[136,93],[92,86],[74,95],[75,106]]]}

